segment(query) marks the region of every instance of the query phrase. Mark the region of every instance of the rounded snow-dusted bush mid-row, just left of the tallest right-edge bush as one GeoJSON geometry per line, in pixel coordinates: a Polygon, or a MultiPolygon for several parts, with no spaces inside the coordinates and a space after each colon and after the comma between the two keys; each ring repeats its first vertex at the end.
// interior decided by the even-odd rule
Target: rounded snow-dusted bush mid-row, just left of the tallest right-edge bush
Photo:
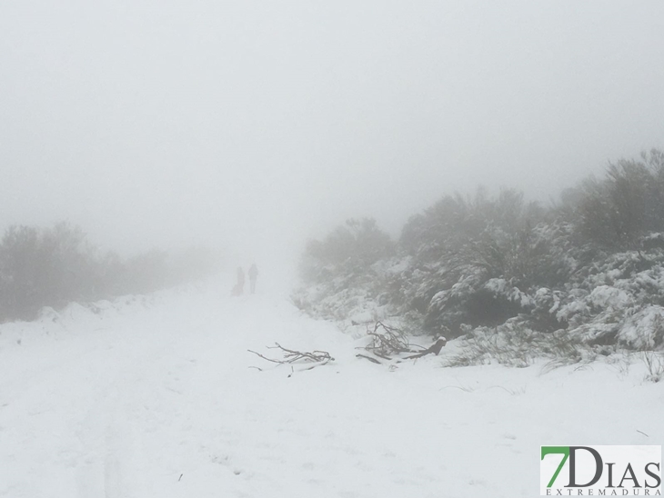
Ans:
{"type": "Polygon", "coordinates": [[[528,313],[529,294],[564,283],[576,269],[571,236],[571,224],[514,191],[447,196],[404,228],[401,245],[412,257],[404,273],[415,281],[403,294],[426,312],[428,330],[448,337],[461,334],[462,324],[503,324],[528,313]]]}

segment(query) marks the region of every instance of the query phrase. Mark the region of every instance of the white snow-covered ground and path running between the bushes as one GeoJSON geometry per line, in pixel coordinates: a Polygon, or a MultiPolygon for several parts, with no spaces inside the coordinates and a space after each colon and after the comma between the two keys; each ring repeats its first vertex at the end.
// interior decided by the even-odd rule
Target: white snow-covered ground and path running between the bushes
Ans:
{"type": "Polygon", "coordinates": [[[387,368],[283,294],[229,288],[0,325],[0,496],[537,496],[541,444],[664,442],[664,383],[636,356],[387,368]],[[336,360],[247,352],[276,341],[336,360]]]}

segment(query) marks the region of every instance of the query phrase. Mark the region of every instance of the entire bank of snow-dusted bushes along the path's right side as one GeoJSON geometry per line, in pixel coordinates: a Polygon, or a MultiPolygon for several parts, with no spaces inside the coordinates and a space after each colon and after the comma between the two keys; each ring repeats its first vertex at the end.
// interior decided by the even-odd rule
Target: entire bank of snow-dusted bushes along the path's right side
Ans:
{"type": "Polygon", "coordinates": [[[375,224],[354,226],[307,247],[298,302],[320,316],[413,319],[448,338],[498,331],[498,349],[510,334],[526,349],[537,336],[540,353],[562,335],[664,349],[662,152],[610,164],[548,209],[512,190],[446,195],[407,221],[396,246],[375,224]]]}

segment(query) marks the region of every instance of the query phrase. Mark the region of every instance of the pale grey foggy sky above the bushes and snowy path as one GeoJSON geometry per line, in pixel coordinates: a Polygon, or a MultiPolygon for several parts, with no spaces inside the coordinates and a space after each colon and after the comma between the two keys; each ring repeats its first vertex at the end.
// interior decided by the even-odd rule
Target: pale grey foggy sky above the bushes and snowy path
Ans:
{"type": "Polygon", "coordinates": [[[397,234],[664,147],[664,2],[4,0],[0,230],[121,252],[397,234]]]}

